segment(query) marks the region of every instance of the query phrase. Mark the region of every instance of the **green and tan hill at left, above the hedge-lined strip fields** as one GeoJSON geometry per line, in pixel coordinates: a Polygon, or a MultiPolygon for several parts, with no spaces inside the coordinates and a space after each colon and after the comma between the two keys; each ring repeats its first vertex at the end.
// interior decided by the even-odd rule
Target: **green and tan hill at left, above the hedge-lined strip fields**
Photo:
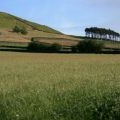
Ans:
{"type": "Polygon", "coordinates": [[[64,35],[61,32],[45,25],[39,25],[8,13],[0,12],[0,41],[29,42],[32,37],[76,40],[74,37],[64,35]],[[22,35],[12,32],[12,28],[15,25],[25,27],[28,34],[22,35]]]}

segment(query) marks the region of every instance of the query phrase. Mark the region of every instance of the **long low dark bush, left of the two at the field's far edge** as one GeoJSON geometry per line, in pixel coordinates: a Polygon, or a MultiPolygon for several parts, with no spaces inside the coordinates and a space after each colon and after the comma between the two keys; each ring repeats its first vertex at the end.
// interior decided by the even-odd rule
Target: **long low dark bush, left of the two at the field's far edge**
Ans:
{"type": "Polygon", "coordinates": [[[28,45],[28,50],[32,52],[59,52],[61,50],[61,45],[40,43],[32,39],[28,45]]]}

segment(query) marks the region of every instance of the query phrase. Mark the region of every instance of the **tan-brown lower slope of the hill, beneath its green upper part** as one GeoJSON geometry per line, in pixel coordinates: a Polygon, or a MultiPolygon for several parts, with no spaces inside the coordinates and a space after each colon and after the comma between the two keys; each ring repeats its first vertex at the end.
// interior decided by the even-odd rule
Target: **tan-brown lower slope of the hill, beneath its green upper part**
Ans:
{"type": "MultiPolygon", "coordinates": [[[[11,29],[12,30],[12,29],[11,29]]],[[[32,37],[46,37],[46,38],[65,38],[70,40],[78,40],[76,38],[61,35],[61,34],[53,34],[42,32],[38,30],[28,30],[27,35],[21,35],[18,33],[13,33],[10,29],[0,29],[0,41],[8,41],[8,42],[29,42],[32,37]]]]}

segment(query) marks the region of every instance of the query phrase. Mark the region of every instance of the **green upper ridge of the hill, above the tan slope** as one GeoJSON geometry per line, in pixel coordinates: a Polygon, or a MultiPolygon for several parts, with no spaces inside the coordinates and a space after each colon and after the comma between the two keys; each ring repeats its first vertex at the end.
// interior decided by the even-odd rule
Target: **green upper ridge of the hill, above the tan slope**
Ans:
{"type": "Polygon", "coordinates": [[[34,22],[30,22],[19,17],[10,15],[8,13],[0,12],[0,27],[12,29],[15,25],[24,26],[27,29],[36,29],[48,33],[61,34],[59,31],[54,30],[48,26],[40,25],[34,22]]]}

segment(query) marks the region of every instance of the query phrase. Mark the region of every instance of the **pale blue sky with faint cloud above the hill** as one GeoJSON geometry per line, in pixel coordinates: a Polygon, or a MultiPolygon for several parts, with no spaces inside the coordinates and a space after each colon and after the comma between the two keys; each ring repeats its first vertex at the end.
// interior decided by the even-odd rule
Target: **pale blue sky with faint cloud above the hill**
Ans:
{"type": "Polygon", "coordinates": [[[120,0],[1,0],[0,11],[65,34],[84,35],[95,26],[120,32],[120,0]]]}

